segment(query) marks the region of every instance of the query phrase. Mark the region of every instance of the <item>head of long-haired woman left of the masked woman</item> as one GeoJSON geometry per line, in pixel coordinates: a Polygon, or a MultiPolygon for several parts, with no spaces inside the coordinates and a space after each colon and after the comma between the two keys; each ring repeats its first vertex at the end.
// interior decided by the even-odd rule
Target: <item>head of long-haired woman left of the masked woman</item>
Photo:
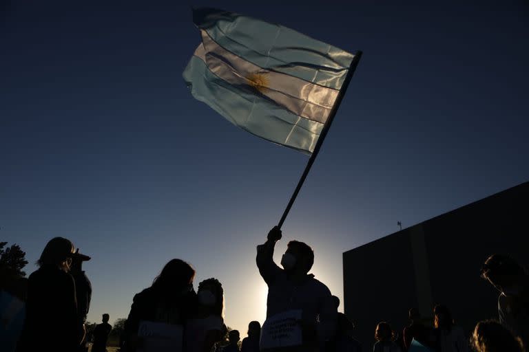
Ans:
{"type": "Polygon", "coordinates": [[[160,275],[152,283],[152,289],[165,296],[183,295],[193,289],[195,270],[181,259],[172,259],[165,264],[160,275]]]}

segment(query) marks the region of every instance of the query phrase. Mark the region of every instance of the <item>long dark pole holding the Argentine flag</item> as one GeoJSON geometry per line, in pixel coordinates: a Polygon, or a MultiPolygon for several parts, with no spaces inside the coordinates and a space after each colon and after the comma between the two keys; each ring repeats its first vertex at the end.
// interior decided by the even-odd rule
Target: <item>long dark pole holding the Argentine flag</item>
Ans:
{"type": "Polygon", "coordinates": [[[340,107],[342,98],[344,98],[347,87],[349,87],[349,82],[351,82],[351,78],[353,77],[356,66],[358,65],[358,62],[360,61],[360,57],[362,57],[362,52],[360,51],[356,52],[355,56],[353,57],[353,61],[351,61],[351,65],[349,66],[349,71],[347,72],[347,75],[345,76],[344,84],[340,88],[340,91],[338,91],[338,96],[336,97],[336,102],[333,106],[333,109],[331,109],[331,112],[329,113],[329,118],[327,118],[327,122],[323,126],[322,132],[320,133],[320,137],[318,138],[318,142],[316,142],[314,151],[312,152],[312,155],[309,161],[307,162],[307,166],[305,166],[305,170],[303,171],[303,174],[301,175],[300,181],[298,182],[298,186],[295,187],[292,197],[290,198],[290,201],[287,204],[287,208],[285,208],[283,212],[283,215],[278,223],[278,228],[281,228],[281,226],[284,223],[284,219],[287,219],[287,215],[290,212],[290,208],[292,208],[292,204],[294,203],[295,198],[298,197],[298,193],[300,192],[301,186],[303,186],[303,182],[307,178],[307,175],[309,175],[309,171],[311,170],[312,164],[314,163],[314,160],[316,159],[316,157],[318,156],[318,153],[320,152],[320,148],[322,147],[322,144],[323,144],[323,141],[325,140],[327,132],[329,131],[329,129],[331,128],[331,124],[333,123],[334,116],[336,115],[336,112],[338,111],[338,108],[340,107]]]}

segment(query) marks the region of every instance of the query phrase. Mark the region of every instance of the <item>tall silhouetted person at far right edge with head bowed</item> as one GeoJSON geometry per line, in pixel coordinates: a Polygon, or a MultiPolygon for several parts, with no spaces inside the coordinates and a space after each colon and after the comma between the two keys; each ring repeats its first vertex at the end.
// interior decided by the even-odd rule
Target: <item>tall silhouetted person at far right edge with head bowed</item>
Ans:
{"type": "Polygon", "coordinates": [[[492,254],[481,267],[485,278],[500,292],[499,322],[529,346],[529,276],[510,256],[492,254]]]}

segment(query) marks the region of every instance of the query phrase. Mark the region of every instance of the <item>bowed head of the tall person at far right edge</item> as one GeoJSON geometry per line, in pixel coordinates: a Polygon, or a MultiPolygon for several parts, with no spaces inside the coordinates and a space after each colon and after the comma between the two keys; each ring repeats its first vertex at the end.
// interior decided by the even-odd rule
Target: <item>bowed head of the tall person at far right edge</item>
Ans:
{"type": "Polygon", "coordinates": [[[481,277],[506,296],[519,294],[525,276],[523,267],[504,254],[492,254],[481,266],[481,277]]]}

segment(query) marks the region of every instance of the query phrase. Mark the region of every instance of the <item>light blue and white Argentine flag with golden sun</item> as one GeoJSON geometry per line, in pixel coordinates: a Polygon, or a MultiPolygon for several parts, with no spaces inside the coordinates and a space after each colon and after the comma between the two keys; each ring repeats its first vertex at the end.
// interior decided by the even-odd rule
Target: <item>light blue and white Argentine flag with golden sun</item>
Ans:
{"type": "Polygon", "coordinates": [[[276,25],[203,8],[202,43],[183,77],[191,94],[259,137],[312,153],[354,55],[276,25]]]}

